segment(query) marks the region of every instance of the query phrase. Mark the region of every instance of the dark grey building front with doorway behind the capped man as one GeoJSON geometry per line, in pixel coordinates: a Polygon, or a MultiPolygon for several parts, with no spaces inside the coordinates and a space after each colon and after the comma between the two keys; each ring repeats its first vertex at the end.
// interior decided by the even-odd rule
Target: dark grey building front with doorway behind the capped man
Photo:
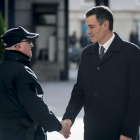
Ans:
{"type": "Polygon", "coordinates": [[[6,27],[22,26],[40,37],[32,66],[40,81],[68,80],[68,0],[1,0],[6,27]]]}

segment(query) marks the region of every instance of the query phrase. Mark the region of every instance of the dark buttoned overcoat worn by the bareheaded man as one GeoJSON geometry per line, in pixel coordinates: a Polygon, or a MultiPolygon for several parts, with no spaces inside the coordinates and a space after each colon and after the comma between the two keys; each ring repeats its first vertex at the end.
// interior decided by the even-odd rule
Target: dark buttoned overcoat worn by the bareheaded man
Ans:
{"type": "Polygon", "coordinates": [[[136,139],[140,118],[140,50],[116,33],[99,59],[98,43],[81,56],[77,83],[63,119],[74,122],[84,106],[85,140],[136,139]]]}

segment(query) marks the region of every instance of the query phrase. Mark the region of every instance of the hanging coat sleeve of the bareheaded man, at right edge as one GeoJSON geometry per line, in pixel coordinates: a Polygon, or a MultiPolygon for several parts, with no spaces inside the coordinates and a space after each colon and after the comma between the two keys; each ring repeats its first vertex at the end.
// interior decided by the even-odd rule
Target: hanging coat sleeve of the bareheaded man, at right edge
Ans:
{"type": "Polygon", "coordinates": [[[128,67],[129,102],[121,134],[136,138],[140,123],[140,49],[136,48],[130,55],[132,57],[128,67]]]}

